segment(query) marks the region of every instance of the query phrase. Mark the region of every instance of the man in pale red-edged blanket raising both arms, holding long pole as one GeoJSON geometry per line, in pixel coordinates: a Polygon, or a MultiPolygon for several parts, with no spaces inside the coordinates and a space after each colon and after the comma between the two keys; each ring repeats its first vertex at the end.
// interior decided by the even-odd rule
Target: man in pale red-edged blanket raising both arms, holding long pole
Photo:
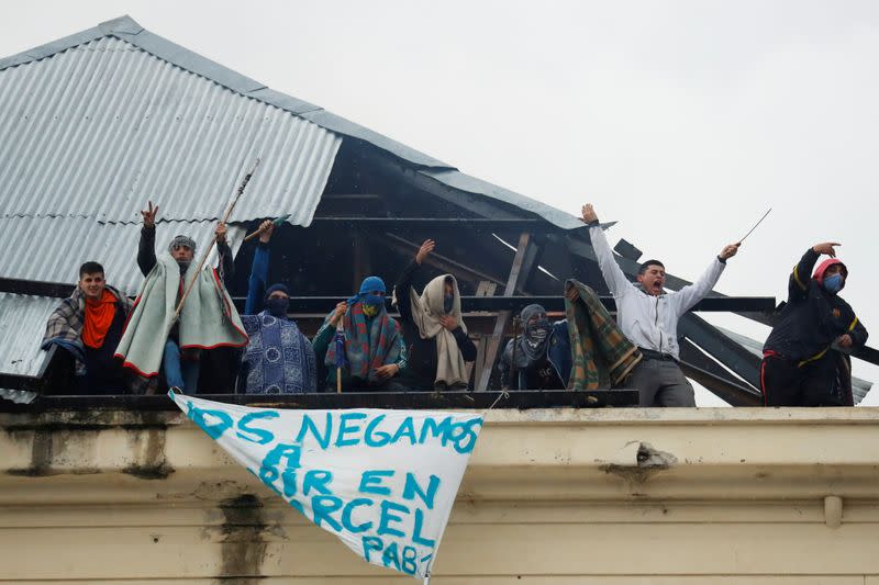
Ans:
{"type": "Polygon", "coordinates": [[[145,378],[165,374],[169,387],[197,392],[199,359],[202,350],[247,345],[247,335],[224,279],[232,278],[235,265],[226,244],[226,227],[216,226],[216,269],[204,267],[201,273],[189,270],[196,255],[196,243],[176,236],[168,254],[156,257],[156,213],[158,206],[142,211],[144,226],[137,250],[137,266],[146,281],[135,301],[116,355],[123,365],[145,378]],[[192,283],[182,311],[175,312],[183,291],[192,283]]]}

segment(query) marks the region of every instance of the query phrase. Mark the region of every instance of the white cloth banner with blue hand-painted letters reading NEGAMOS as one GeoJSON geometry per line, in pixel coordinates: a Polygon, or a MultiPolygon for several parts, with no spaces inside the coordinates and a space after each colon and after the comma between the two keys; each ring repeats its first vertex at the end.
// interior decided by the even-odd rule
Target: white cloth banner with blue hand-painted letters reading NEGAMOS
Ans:
{"type": "Polygon", "coordinates": [[[168,395],[238,463],[354,552],[430,576],[481,415],[280,410],[168,395]]]}

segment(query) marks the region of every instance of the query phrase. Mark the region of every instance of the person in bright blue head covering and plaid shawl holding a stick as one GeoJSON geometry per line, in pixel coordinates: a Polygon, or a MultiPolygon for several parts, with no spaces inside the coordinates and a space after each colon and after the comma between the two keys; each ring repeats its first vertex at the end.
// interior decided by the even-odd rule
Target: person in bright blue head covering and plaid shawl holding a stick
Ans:
{"type": "Polygon", "coordinates": [[[380,278],[364,279],[359,292],[338,303],[314,336],[314,355],[326,368],[327,391],[336,390],[338,368],[345,391],[402,390],[396,378],[405,368],[405,346],[400,325],[385,307],[385,281],[380,278]],[[340,324],[344,341],[336,339],[340,324]],[[338,356],[338,351],[344,355],[338,356]]]}

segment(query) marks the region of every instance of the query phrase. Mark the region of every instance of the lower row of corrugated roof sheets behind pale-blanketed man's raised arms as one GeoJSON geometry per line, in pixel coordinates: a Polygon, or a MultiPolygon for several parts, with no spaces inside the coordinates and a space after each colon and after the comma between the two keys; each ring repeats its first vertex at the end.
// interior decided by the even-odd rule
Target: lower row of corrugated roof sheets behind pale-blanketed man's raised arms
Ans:
{"type": "MultiPolygon", "coordinates": [[[[158,222],[156,252],[163,252],[170,239],[183,234],[207,246],[213,237],[213,222],[158,222]]],[[[0,255],[0,274],[4,278],[74,283],[79,266],[88,260],[103,265],[108,283],[126,294],[136,294],[144,277],[137,268],[137,224],[101,224],[88,217],[0,218],[0,250],[20,250],[0,255]]],[[[244,239],[244,227],[230,225],[227,234],[233,254],[244,239]]],[[[197,250],[201,259],[201,249],[197,250]]],[[[211,266],[216,252],[211,254],[211,266]]]]}

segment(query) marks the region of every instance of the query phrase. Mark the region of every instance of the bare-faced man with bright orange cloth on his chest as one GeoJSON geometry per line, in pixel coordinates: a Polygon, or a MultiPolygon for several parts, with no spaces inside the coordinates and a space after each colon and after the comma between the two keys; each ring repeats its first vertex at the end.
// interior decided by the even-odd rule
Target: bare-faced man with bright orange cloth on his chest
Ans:
{"type": "MultiPolygon", "coordinates": [[[[113,356],[131,308],[131,300],[107,284],[101,265],[79,268],[74,294],[52,313],[43,337],[43,349],[57,346],[62,368],[78,374],[79,393],[110,394],[129,385],[113,356]]],[[[65,382],[71,376],[67,378],[65,382]]]]}

